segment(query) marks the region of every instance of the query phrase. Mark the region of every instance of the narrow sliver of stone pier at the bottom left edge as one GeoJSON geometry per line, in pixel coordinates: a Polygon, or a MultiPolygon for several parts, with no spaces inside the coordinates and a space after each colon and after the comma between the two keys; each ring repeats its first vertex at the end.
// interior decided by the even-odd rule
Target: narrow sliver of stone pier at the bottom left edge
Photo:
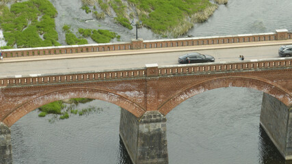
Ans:
{"type": "Polygon", "coordinates": [[[2,122],[0,122],[0,163],[12,163],[11,131],[2,122]]]}

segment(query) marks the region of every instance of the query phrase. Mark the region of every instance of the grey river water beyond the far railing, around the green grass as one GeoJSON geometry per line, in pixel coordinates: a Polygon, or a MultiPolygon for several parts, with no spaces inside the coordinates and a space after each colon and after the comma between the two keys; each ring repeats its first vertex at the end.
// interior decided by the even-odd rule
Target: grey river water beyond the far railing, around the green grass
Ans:
{"type": "MultiPolygon", "coordinates": [[[[135,38],[135,28],[131,31],[114,23],[114,16],[105,20],[95,20],[92,14],[81,10],[80,0],[50,0],[57,8],[58,16],[55,19],[59,40],[64,44],[64,24],[72,29],[92,28],[109,29],[117,32],[121,42],[130,42],[135,38]]],[[[219,5],[205,23],[197,23],[186,34],[190,36],[228,36],[243,33],[274,32],[275,29],[292,31],[291,0],[228,0],[227,5],[219,5]]],[[[139,38],[152,40],[161,38],[149,29],[138,29],[139,38]]],[[[184,37],[184,36],[182,36],[184,37]]],[[[91,41],[92,42],[92,41],[91,41]]],[[[114,40],[117,42],[117,40],[114,40]]]]}

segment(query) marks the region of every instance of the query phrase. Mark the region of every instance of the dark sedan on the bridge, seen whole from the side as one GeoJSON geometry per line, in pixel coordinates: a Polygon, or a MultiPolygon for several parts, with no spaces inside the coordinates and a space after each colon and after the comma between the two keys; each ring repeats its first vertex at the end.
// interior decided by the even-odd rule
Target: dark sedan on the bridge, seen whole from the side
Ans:
{"type": "Polygon", "coordinates": [[[190,63],[204,63],[214,62],[215,58],[211,55],[202,55],[200,53],[187,53],[178,57],[178,63],[190,64],[190,63]]]}

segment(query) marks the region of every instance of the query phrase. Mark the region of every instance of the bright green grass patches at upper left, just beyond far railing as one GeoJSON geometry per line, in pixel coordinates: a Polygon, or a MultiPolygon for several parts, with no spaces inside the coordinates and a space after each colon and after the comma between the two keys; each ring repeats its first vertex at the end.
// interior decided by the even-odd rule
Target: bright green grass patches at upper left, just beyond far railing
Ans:
{"type": "MultiPolygon", "coordinates": [[[[89,8],[83,6],[86,12],[89,8]]],[[[0,4],[0,27],[6,46],[1,49],[28,48],[40,46],[60,46],[58,33],[55,30],[55,16],[57,11],[48,0],[29,0],[13,3],[8,8],[5,3],[0,4]]],[[[79,33],[73,33],[70,25],[63,27],[68,45],[88,44],[86,38],[90,37],[96,43],[107,43],[112,39],[120,39],[117,33],[103,29],[79,29],[79,33]],[[83,31],[90,30],[90,36],[83,35],[83,31]]]]}

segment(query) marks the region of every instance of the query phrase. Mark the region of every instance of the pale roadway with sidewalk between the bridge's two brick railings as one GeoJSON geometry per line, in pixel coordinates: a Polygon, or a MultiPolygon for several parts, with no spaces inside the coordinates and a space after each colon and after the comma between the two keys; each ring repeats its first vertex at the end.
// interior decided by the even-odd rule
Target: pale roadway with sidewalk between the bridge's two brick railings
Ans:
{"type": "Polygon", "coordinates": [[[178,56],[194,51],[213,55],[215,61],[238,61],[239,55],[244,55],[247,60],[276,58],[282,44],[292,44],[292,40],[13,57],[0,61],[0,79],[16,75],[140,68],[153,63],[174,65],[178,64],[178,56]]]}

